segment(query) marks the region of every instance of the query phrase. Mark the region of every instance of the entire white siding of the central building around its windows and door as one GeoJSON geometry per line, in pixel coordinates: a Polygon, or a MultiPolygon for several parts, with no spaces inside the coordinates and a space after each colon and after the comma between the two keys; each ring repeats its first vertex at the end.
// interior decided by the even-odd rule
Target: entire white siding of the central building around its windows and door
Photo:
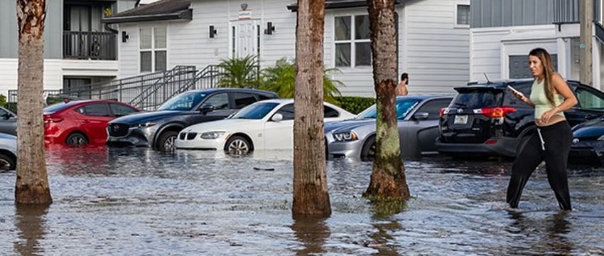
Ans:
{"type": "MultiPolygon", "coordinates": [[[[469,28],[455,27],[456,6],[463,0],[416,0],[397,5],[399,13],[399,74],[409,73],[412,94],[453,92],[469,78],[469,28]]],[[[469,1],[467,1],[469,3],[469,1]]],[[[261,67],[274,65],[280,58],[293,60],[296,48],[296,13],[288,11],[291,1],[249,0],[252,19],[260,24],[261,67]],[[264,35],[267,22],[272,35],[264,35]]],[[[229,58],[230,24],[237,21],[241,1],[193,0],[193,21],[168,23],[168,68],[195,65],[198,69],[229,58]],[[217,30],[208,36],[209,26],[217,30]]],[[[325,12],[325,66],[333,68],[333,17],[367,14],[367,9],[338,9],[325,12]]],[[[147,26],[147,23],[142,24],[147,26]]],[[[119,43],[119,76],[139,74],[138,24],[121,24],[128,42],[119,43]]],[[[340,68],[334,78],[345,83],[343,95],[374,96],[371,68],[340,68]]],[[[398,75],[399,75],[398,74],[398,75]]]]}

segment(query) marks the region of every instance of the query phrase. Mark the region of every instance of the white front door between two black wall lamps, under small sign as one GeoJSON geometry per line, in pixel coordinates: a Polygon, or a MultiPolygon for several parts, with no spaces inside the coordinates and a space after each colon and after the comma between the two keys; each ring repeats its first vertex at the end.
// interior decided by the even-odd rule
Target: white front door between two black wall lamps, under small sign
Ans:
{"type": "Polygon", "coordinates": [[[248,55],[259,56],[260,28],[259,21],[234,21],[232,29],[231,58],[245,58],[248,55]]]}

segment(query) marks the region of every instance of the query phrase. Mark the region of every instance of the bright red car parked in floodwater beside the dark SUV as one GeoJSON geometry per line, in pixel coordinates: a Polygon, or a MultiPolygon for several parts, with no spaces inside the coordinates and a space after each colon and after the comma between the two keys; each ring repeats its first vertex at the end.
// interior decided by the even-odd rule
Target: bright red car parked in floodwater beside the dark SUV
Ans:
{"type": "Polygon", "coordinates": [[[44,144],[104,144],[107,122],[139,112],[115,100],[72,100],[44,108],[44,144]]]}

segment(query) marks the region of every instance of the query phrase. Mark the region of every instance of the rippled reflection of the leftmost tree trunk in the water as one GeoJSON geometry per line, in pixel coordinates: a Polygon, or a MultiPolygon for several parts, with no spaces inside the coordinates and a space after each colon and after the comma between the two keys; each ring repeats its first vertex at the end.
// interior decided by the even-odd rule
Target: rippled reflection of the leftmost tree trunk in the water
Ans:
{"type": "Polygon", "coordinates": [[[46,235],[44,217],[48,206],[17,204],[15,208],[19,240],[13,242],[14,252],[23,256],[44,255],[40,242],[46,235]]]}

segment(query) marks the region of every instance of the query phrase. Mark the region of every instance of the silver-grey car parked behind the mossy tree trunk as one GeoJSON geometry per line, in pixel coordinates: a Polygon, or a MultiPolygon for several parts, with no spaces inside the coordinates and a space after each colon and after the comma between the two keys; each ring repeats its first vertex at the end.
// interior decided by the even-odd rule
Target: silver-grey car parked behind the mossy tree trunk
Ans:
{"type": "MultiPolygon", "coordinates": [[[[434,142],[438,137],[441,108],[453,96],[413,95],[397,97],[397,118],[402,157],[437,154],[434,142]]],[[[328,159],[360,159],[375,157],[375,105],[363,110],[355,119],[325,123],[325,144],[328,159]]]]}

